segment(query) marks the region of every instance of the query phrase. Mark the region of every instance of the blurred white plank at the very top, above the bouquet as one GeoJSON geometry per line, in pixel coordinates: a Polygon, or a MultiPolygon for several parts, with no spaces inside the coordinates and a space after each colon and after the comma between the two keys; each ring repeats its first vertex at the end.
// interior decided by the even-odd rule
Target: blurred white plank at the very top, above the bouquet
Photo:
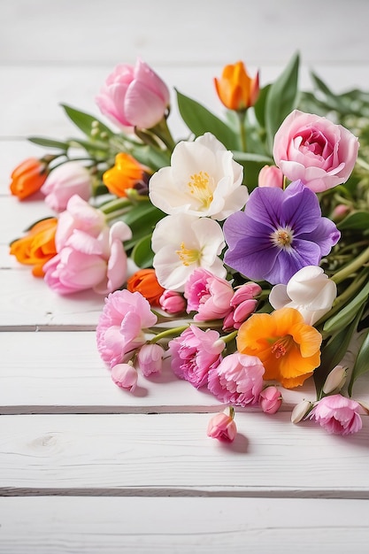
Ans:
{"type": "Polygon", "coordinates": [[[99,64],[136,52],[166,64],[227,63],[247,53],[280,62],[300,48],[307,61],[368,60],[368,4],[361,0],[12,0],[3,6],[0,61],[99,64]],[[19,41],[19,37],[22,41],[19,41]],[[313,40],[306,40],[306,37],[313,40]],[[225,47],[226,45],[226,47],[225,47]]]}

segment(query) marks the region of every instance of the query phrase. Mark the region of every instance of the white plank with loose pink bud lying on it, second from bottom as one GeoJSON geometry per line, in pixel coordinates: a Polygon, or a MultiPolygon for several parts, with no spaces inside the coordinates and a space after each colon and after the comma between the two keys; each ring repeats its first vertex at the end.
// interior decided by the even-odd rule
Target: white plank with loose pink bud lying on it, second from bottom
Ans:
{"type": "Polygon", "coordinates": [[[238,413],[231,445],[206,436],[209,414],[19,415],[0,418],[2,494],[369,498],[369,418],[327,435],[238,413]]]}

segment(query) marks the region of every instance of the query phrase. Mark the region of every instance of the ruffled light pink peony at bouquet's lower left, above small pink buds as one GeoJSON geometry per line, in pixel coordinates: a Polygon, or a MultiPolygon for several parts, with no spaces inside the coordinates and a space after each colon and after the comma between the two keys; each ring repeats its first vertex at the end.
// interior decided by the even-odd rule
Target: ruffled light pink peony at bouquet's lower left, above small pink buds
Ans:
{"type": "Polygon", "coordinates": [[[157,323],[150,304],[139,292],[116,290],[105,298],[96,327],[97,350],[110,367],[146,342],[144,330],[157,323]]]}

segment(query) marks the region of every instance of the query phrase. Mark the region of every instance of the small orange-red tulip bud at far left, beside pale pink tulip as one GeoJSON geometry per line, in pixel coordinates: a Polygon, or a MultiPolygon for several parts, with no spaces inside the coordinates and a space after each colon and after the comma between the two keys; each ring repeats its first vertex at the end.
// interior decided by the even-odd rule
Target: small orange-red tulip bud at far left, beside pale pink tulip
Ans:
{"type": "Polygon", "coordinates": [[[11,175],[10,189],[12,195],[18,196],[19,200],[27,198],[41,189],[46,181],[47,164],[37,158],[27,158],[13,170],[11,175]]]}

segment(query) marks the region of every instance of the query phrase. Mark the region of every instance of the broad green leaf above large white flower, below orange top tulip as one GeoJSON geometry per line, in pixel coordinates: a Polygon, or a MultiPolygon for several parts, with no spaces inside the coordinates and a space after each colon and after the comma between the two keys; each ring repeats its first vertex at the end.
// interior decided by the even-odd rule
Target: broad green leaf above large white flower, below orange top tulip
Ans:
{"type": "Polygon", "coordinates": [[[238,136],[224,121],[217,118],[201,104],[198,104],[196,100],[182,95],[178,90],[176,90],[176,93],[181,118],[194,135],[200,136],[209,132],[215,135],[228,150],[239,148],[238,136]]]}

